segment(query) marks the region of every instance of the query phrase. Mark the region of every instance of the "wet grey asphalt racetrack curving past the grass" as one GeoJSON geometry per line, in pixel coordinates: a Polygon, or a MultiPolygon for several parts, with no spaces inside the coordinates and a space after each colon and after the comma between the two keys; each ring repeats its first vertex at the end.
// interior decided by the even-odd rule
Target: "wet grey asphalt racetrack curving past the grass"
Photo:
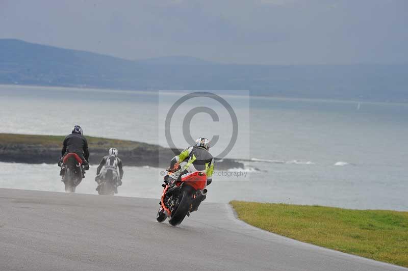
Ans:
{"type": "Polygon", "coordinates": [[[158,208],[154,199],[0,189],[0,270],[408,270],[254,228],[228,204],[203,202],[177,227],[158,223],[158,208]]]}

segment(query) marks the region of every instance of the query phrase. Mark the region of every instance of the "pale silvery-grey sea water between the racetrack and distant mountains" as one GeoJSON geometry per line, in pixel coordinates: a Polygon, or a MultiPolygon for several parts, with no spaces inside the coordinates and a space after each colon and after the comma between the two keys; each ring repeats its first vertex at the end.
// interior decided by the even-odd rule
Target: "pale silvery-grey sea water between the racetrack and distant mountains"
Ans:
{"type": "MultiPolygon", "coordinates": [[[[166,104],[167,98],[157,91],[0,86],[0,132],[67,134],[80,124],[89,136],[167,147],[163,116],[173,100],[185,94],[171,93],[166,104]]],[[[260,98],[247,93],[225,99],[241,120],[238,144],[227,157],[242,159],[245,167],[217,171],[208,201],[408,210],[407,104],[260,98]]],[[[201,105],[213,106],[206,100],[201,105]]],[[[220,143],[211,149],[216,153],[222,140],[231,138],[226,122],[213,122],[200,113],[191,129],[219,134],[220,143]]],[[[174,142],[187,147],[182,137],[174,142]]],[[[98,161],[91,157],[91,162],[98,161]]],[[[78,193],[96,194],[95,169],[87,172],[78,193]]],[[[163,169],[124,171],[118,195],[159,198],[163,169]]],[[[63,192],[58,173],[56,165],[1,162],[0,187],[63,192]]]]}

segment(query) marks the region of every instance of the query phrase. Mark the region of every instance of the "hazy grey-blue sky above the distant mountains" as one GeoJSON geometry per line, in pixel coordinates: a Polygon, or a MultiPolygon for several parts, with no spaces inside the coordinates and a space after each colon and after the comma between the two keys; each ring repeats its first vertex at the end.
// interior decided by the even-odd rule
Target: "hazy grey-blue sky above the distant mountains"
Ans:
{"type": "Polygon", "coordinates": [[[125,59],[408,63],[408,0],[0,0],[0,38],[125,59]]]}

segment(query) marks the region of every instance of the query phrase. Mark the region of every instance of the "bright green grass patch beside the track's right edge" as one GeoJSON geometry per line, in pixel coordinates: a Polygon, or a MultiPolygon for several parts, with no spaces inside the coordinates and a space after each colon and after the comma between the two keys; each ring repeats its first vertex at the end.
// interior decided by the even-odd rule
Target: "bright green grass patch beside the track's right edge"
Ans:
{"type": "Polygon", "coordinates": [[[408,267],[408,212],[232,201],[238,218],[303,242],[408,267]]]}

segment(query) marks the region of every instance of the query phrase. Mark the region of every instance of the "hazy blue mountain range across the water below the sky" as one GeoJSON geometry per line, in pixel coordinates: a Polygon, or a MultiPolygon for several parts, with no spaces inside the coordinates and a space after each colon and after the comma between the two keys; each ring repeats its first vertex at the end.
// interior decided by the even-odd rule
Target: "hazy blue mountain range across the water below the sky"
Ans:
{"type": "Polygon", "coordinates": [[[238,65],[192,57],[132,61],[0,39],[0,84],[250,90],[253,95],[279,97],[408,102],[408,64],[238,65]]]}

